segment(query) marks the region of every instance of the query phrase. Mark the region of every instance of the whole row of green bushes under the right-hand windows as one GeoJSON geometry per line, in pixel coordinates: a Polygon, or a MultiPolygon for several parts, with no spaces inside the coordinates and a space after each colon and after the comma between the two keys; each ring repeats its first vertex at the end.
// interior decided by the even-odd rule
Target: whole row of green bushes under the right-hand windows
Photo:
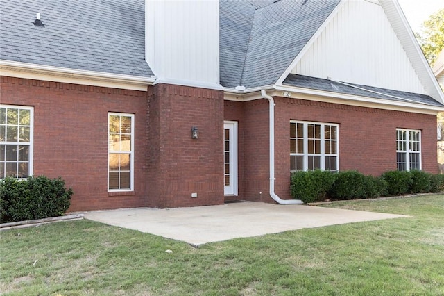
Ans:
{"type": "Polygon", "coordinates": [[[362,199],[444,191],[444,175],[420,170],[388,171],[382,176],[366,176],[355,170],[295,172],[291,175],[291,197],[302,202],[325,199],[362,199]]]}

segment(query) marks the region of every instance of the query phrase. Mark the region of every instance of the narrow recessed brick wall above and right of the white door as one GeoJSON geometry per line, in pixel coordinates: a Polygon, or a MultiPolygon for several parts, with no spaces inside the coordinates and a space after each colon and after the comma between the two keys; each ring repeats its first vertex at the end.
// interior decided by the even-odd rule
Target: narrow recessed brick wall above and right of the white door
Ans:
{"type": "Polygon", "coordinates": [[[238,195],[225,196],[225,202],[244,199],[244,103],[239,101],[225,101],[224,120],[237,122],[237,174],[238,174],[238,195]]]}

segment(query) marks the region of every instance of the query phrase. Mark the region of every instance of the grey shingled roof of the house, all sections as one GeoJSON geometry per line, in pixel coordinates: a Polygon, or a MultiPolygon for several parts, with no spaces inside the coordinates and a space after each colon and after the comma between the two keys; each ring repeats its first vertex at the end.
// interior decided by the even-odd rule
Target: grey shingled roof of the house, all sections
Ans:
{"type": "MultiPolygon", "coordinates": [[[[220,0],[220,83],[272,85],[341,0],[220,0]]],[[[110,74],[149,77],[144,0],[2,1],[0,59],[110,74]],[[40,13],[43,26],[36,26],[40,13]]],[[[293,75],[284,85],[441,106],[429,96],[363,92],[326,79],[293,75]]],[[[359,85],[356,85],[359,86],[359,85]]],[[[365,87],[370,90],[368,86],[365,87]]]]}

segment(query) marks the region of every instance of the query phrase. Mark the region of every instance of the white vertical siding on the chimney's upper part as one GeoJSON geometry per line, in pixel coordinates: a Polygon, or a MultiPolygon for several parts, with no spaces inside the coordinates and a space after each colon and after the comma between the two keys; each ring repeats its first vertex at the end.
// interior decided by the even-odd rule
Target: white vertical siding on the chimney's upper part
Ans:
{"type": "Polygon", "coordinates": [[[146,61],[160,79],[219,84],[219,1],[145,1],[146,61]]]}

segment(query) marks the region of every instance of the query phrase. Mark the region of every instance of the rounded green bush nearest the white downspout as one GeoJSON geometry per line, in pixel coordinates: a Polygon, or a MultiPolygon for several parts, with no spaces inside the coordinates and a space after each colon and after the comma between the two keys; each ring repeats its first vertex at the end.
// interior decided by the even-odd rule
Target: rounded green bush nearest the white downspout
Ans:
{"type": "Polygon", "coordinates": [[[321,202],[336,179],[331,172],[314,170],[295,172],[291,175],[290,192],[293,199],[302,202],[321,202]]]}

